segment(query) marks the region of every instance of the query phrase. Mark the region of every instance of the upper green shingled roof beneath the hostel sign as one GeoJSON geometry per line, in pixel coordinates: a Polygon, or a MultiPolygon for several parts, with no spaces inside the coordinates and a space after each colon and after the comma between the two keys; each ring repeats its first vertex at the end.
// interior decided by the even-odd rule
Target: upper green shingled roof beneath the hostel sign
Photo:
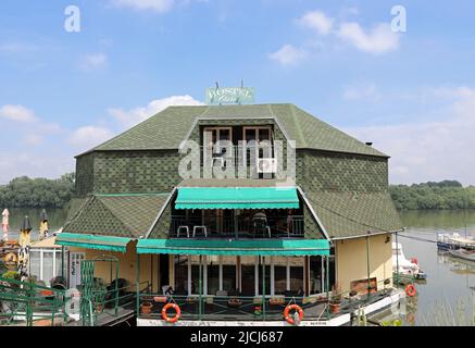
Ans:
{"type": "Polygon", "coordinates": [[[293,104],[170,107],[92,150],[178,149],[199,119],[272,119],[297,148],[386,157],[293,104]]]}

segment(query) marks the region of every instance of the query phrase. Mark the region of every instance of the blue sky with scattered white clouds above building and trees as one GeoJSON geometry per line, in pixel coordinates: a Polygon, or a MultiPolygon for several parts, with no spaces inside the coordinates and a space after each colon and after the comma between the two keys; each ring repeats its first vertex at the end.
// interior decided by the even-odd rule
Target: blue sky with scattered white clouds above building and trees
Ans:
{"type": "Polygon", "coordinates": [[[468,0],[2,0],[0,184],[73,171],[75,154],[241,78],[259,103],[373,141],[391,183],[475,184],[474,20],[468,0]]]}

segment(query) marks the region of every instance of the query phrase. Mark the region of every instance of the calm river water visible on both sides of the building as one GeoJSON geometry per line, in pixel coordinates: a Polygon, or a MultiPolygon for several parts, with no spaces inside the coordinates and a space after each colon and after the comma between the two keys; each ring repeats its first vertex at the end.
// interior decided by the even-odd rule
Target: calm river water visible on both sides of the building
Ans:
{"type": "MultiPolygon", "coordinates": [[[[50,209],[47,212],[50,229],[57,231],[64,223],[66,211],[50,209]]],[[[11,209],[10,213],[11,236],[17,238],[21,221],[28,215],[34,228],[32,240],[36,240],[40,210],[11,209]]],[[[435,240],[437,233],[475,236],[475,211],[411,211],[400,215],[407,232],[400,234],[398,240],[408,259],[417,258],[427,281],[416,284],[417,296],[408,299],[405,309],[388,318],[400,318],[404,325],[470,324],[475,315],[475,262],[438,253],[435,240]]]]}

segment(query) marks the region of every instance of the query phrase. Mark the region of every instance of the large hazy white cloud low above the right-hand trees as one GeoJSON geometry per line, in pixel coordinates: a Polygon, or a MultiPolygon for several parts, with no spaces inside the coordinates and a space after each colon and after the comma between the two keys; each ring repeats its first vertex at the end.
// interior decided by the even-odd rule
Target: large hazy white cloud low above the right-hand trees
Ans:
{"type": "MultiPolygon", "coordinates": [[[[346,129],[362,141],[373,141],[375,148],[391,156],[391,183],[459,179],[464,185],[475,185],[472,151],[475,89],[442,90],[445,96],[453,96],[449,108],[443,108],[447,116],[442,121],[346,129]]],[[[437,89],[434,91],[433,98],[436,99],[437,89]]]]}

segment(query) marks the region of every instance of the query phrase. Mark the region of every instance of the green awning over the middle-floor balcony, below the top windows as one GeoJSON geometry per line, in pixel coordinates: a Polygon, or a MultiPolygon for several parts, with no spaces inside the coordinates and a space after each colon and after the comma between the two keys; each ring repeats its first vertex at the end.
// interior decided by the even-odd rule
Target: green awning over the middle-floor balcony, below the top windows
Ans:
{"type": "Polygon", "coordinates": [[[182,187],[175,209],[298,209],[295,187],[182,187]]]}

